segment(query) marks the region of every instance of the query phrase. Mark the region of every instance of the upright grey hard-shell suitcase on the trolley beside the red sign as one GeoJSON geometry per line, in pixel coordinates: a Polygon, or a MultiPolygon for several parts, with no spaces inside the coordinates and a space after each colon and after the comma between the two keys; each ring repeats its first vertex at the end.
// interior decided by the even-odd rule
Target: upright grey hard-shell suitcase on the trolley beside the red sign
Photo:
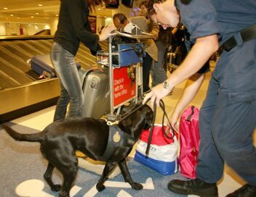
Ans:
{"type": "Polygon", "coordinates": [[[81,80],[84,78],[82,117],[100,118],[108,114],[111,109],[108,67],[97,70],[80,70],[79,72],[81,80]]]}

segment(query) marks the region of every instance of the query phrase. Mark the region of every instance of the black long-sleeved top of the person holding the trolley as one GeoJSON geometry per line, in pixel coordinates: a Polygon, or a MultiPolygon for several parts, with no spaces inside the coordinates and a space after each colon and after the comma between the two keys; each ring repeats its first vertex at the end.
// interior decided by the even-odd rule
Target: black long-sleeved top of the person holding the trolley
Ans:
{"type": "Polygon", "coordinates": [[[99,49],[99,36],[92,33],[86,0],[62,0],[54,41],[74,56],[81,41],[93,52],[99,49]]]}

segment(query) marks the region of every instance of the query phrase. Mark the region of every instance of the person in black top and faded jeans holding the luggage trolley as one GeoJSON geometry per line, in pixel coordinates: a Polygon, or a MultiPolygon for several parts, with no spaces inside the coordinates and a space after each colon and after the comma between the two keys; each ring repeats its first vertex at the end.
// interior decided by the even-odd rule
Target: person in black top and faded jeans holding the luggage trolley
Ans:
{"type": "Polygon", "coordinates": [[[79,43],[84,43],[92,54],[100,49],[99,41],[105,41],[116,28],[113,25],[103,28],[100,35],[92,33],[88,16],[95,6],[104,0],[62,0],[59,22],[52,44],[51,59],[60,80],[60,98],[57,101],[54,121],[68,117],[81,117],[84,96],[81,90],[79,72],[74,57],[79,43]]]}

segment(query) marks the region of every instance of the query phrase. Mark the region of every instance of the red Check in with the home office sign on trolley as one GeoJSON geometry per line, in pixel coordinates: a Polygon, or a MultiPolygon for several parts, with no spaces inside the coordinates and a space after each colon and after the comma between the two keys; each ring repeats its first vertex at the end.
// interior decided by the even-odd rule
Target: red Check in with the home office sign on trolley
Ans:
{"type": "Polygon", "coordinates": [[[113,107],[137,97],[136,66],[113,69],[113,107]]]}

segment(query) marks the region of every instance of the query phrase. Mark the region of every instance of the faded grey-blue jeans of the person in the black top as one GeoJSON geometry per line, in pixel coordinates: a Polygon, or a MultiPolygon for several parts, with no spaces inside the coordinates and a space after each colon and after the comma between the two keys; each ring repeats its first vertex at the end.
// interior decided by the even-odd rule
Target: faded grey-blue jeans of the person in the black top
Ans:
{"type": "Polygon", "coordinates": [[[65,118],[68,103],[68,117],[81,117],[84,95],[73,54],[54,42],[51,59],[60,80],[60,98],[57,101],[54,121],[65,118]]]}

